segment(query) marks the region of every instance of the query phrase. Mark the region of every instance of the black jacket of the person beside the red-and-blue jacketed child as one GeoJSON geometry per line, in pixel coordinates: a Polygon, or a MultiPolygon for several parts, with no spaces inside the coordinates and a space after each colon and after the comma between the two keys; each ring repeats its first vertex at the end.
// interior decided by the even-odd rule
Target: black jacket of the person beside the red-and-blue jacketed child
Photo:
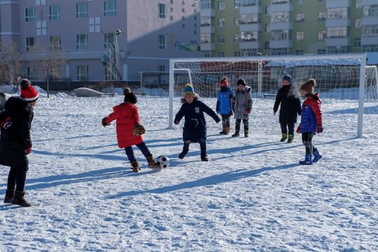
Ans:
{"type": "Polygon", "coordinates": [[[279,123],[297,123],[297,114],[300,116],[301,107],[293,85],[284,85],[278,90],[273,107],[274,112],[278,111],[279,104],[281,104],[279,123]]]}

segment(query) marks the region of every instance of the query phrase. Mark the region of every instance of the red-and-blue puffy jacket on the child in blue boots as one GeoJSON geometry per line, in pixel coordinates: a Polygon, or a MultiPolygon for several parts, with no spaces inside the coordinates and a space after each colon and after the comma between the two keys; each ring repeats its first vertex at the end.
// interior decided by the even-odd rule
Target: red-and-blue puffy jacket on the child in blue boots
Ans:
{"type": "Polygon", "coordinates": [[[304,98],[302,104],[302,117],[300,120],[300,132],[314,132],[321,125],[321,99],[318,94],[311,94],[304,98]]]}

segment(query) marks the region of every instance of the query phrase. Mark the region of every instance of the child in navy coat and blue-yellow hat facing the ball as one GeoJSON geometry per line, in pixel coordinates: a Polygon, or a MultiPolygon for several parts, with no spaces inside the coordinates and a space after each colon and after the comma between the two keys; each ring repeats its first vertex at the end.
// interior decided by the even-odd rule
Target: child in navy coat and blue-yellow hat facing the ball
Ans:
{"type": "Polygon", "coordinates": [[[183,151],[180,153],[179,158],[183,159],[186,154],[188,154],[190,142],[198,142],[200,143],[201,160],[209,161],[206,153],[207,127],[204,113],[211,116],[216,123],[219,123],[221,119],[209,106],[200,101],[200,96],[195,94],[190,84],[186,84],[181,103],[181,108],[174,118],[174,123],[178,125],[180,120],[185,117],[183,126],[183,151]]]}

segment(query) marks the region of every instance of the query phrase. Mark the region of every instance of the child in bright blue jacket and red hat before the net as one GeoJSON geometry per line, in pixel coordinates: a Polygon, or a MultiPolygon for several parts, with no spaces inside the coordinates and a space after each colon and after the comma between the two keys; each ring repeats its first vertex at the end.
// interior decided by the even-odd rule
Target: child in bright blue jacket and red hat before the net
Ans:
{"type": "Polygon", "coordinates": [[[219,84],[221,90],[218,92],[218,99],[216,100],[216,112],[221,114],[222,117],[222,131],[220,134],[230,133],[230,117],[232,116],[232,102],[230,95],[235,97],[234,92],[228,86],[227,77],[223,77],[219,84]]]}

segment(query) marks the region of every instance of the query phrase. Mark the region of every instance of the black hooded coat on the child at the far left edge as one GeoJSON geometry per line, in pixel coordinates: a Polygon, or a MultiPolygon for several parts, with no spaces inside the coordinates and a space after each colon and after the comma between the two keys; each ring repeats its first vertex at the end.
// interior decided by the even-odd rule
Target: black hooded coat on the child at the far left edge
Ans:
{"type": "Polygon", "coordinates": [[[31,148],[30,129],[34,113],[31,106],[21,97],[10,97],[4,104],[0,121],[10,118],[11,125],[1,128],[0,164],[18,167],[29,164],[27,149],[31,148]]]}

